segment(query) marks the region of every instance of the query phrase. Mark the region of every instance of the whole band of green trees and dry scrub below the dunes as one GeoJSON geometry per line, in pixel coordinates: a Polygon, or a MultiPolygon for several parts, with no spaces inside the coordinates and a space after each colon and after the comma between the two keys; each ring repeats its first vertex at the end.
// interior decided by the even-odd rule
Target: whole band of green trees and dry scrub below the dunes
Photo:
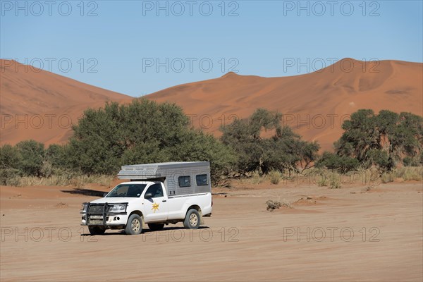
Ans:
{"type": "MultiPolygon", "coordinates": [[[[1,185],[109,185],[123,164],[210,161],[214,185],[228,179],[260,184],[295,176],[337,189],[362,183],[423,178],[423,118],[410,113],[359,110],[343,123],[335,153],[317,155],[317,142],[281,125],[282,114],[257,109],[221,128],[217,140],[189,127],[175,104],[135,99],[87,109],[66,145],[34,140],[0,147],[1,185]],[[403,165],[403,167],[398,167],[403,165]],[[228,178],[231,176],[231,178],[228,178]],[[344,179],[345,178],[345,179],[344,179]]],[[[302,181],[302,180],[300,180],[302,181]]],[[[298,184],[298,183],[297,183],[298,184]]]]}

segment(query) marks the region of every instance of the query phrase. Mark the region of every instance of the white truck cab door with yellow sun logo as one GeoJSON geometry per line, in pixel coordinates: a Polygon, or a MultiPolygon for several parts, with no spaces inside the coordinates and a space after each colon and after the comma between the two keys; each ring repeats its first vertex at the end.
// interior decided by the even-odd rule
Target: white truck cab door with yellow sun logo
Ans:
{"type": "Polygon", "coordinates": [[[145,199],[144,196],[144,216],[145,221],[166,221],[168,219],[167,195],[164,194],[163,185],[156,183],[145,191],[145,195],[152,194],[152,197],[145,199]]]}

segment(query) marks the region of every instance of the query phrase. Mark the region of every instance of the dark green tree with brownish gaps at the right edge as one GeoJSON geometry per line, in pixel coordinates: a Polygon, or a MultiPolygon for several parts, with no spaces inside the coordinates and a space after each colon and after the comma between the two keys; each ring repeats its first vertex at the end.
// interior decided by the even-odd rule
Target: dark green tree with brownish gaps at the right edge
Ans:
{"type": "Polygon", "coordinates": [[[405,158],[419,162],[423,149],[423,118],[411,113],[360,109],[344,121],[344,131],[335,143],[336,154],[353,157],[361,166],[391,170],[405,158]]]}

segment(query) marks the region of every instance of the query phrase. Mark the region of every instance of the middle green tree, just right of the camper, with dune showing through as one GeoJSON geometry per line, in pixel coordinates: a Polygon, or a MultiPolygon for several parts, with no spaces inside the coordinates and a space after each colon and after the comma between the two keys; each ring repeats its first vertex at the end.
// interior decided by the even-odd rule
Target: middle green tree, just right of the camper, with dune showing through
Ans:
{"type": "Polygon", "coordinates": [[[317,157],[319,145],[302,141],[288,126],[281,125],[281,118],[280,113],[257,109],[249,118],[221,127],[223,144],[238,155],[240,173],[297,171],[300,161],[308,168],[317,157]]]}

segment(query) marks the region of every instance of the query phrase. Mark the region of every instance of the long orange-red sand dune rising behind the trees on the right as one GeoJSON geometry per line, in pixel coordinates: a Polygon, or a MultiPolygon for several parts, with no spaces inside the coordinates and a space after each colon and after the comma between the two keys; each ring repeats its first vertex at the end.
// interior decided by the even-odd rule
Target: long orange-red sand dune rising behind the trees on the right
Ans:
{"type": "Polygon", "coordinates": [[[404,61],[364,63],[343,59],[321,71],[282,78],[228,73],[221,78],[178,85],[150,94],[175,102],[192,115],[195,127],[219,135],[231,118],[245,118],[257,107],[280,111],[283,121],[306,140],[331,149],[341,123],[357,109],[410,111],[423,115],[423,64],[404,61]],[[212,118],[212,124],[210,123],[212,118]]]}

